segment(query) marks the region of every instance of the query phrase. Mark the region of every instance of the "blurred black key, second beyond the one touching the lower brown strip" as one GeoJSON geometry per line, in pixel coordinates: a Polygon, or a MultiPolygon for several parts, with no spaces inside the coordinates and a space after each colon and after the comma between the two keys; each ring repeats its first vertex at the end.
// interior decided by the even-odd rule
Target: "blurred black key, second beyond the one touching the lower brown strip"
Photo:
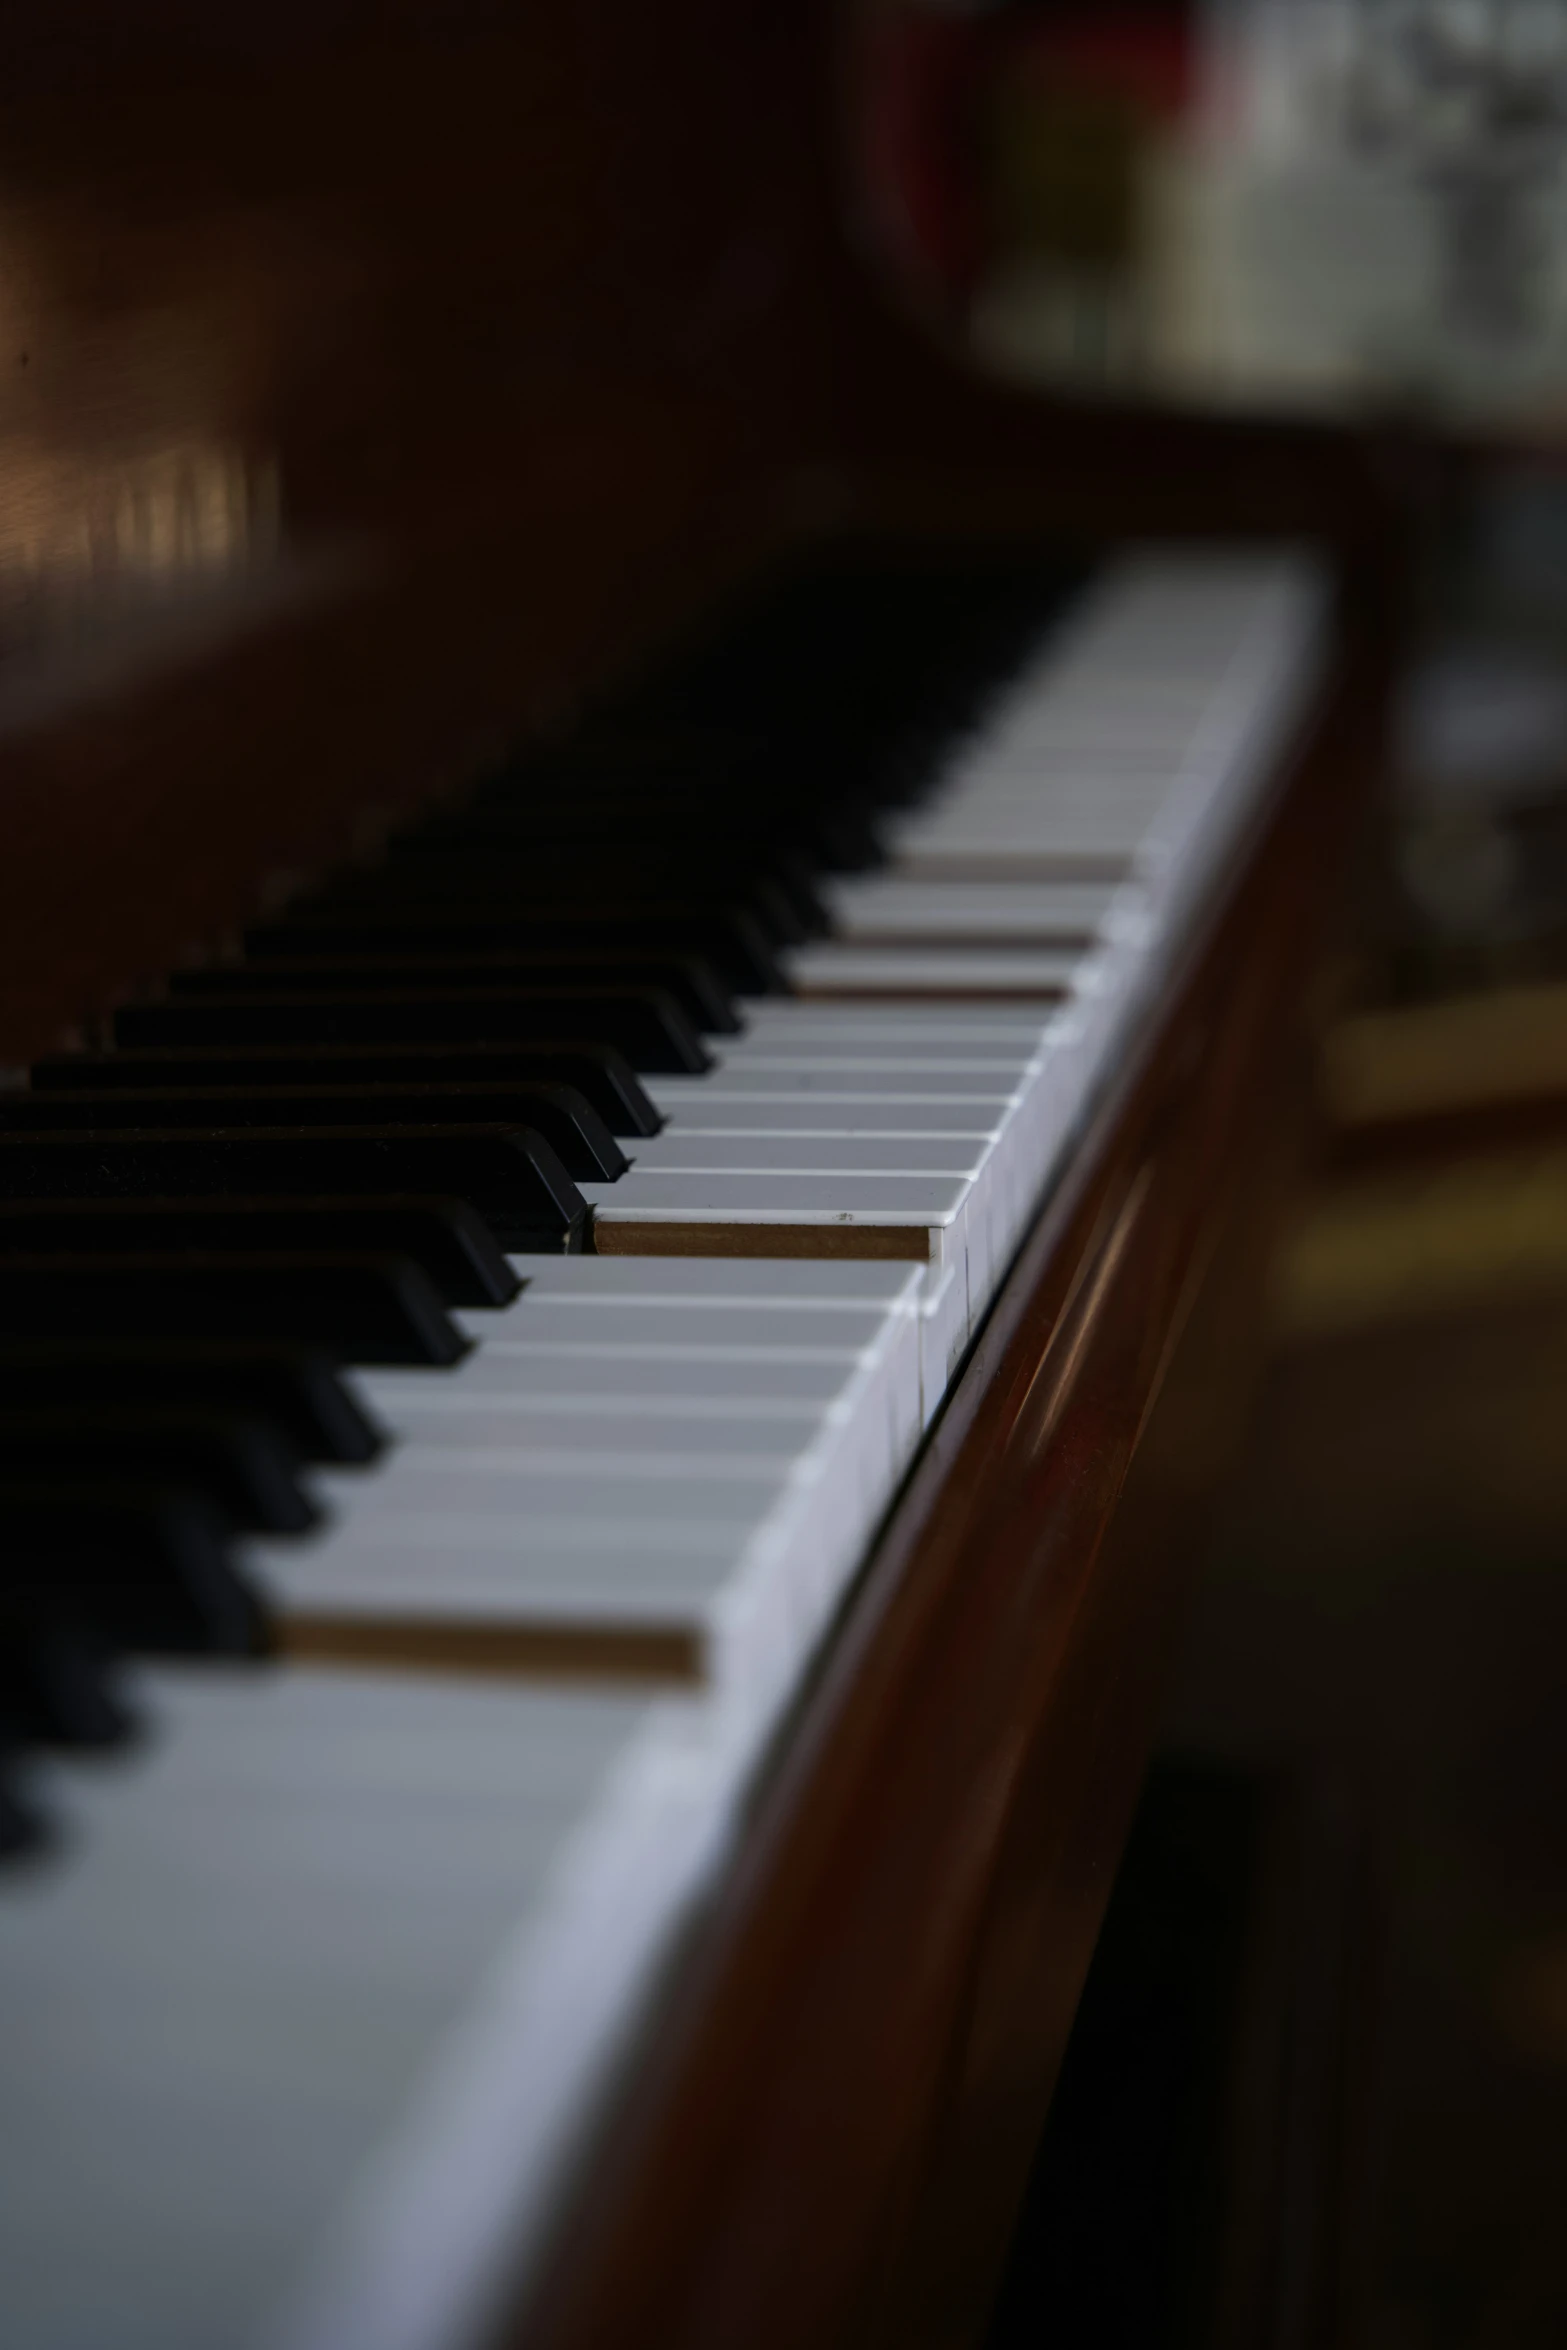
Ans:
{"type": "Polygon", "coordinates": [[[303,1459],[362,1466],[383,1448],[320,1347],[263,1340],[0,1337],[0,1410],[221,1408],[282,1429],[303,1459]]]}

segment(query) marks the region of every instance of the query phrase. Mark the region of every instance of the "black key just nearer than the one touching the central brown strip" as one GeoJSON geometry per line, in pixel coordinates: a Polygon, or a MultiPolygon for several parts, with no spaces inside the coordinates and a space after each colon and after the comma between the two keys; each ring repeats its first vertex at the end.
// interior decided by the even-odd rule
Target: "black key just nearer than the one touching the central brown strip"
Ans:
{"type": "Polygon", "coordinates": [[[411,1257],[449,1307],[505,1307],[522,1288],[460,1198],[0,1201],[0,1257],[176,1248],[411,1257]]]}

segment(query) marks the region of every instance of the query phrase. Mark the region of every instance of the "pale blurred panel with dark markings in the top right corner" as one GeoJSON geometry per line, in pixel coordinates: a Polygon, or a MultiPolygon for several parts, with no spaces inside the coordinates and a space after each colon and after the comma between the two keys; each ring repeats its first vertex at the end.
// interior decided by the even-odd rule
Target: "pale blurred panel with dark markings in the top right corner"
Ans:
{"type": "Polygon", "coordinates": [[[1560,0],[1245,0],[1208,12],[1184,362],[1236,390],[1501,414],[1567,381],[1560,0]]]}

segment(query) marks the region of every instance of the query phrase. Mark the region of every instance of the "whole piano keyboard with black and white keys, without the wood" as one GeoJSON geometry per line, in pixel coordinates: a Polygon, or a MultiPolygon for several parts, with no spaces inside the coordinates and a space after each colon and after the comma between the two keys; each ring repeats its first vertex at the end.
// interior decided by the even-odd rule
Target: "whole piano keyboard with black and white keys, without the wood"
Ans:
{"type": "Polygon", "coordinates": [[[0,2322],[482,2343],[1313,689],[827,573],[0,1095],[0,2322]]]}

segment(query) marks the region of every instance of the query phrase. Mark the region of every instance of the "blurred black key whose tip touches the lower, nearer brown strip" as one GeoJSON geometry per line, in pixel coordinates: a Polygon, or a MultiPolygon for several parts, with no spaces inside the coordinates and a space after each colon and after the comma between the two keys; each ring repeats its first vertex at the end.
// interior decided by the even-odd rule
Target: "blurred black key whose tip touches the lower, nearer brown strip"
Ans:
{"type": "Polygon", "coordinates": [[[254,1657],[268,1645],[223,1516],[148,1480],[0,1478],[0,1624],[85,1626],[153,1654],[254,1657]]]}

